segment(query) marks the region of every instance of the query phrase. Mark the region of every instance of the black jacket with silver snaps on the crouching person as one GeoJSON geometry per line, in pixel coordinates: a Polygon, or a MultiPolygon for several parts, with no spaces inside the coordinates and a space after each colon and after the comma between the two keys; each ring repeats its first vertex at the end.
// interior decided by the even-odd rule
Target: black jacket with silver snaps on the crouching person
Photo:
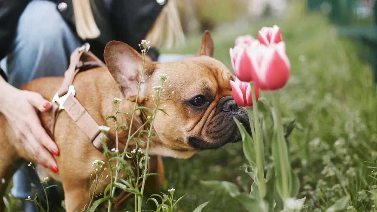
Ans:
{"type": "MultiPolygon", "coordinates": [[[[0,60],[9,51],[15,38],[18,19],[30,1],[0,0],[0,60]]],[[[72,31],[76,32],[72,0],[51,1],[57,3],[57,10],[59,3],[67,4],[64,11],[58,11],[72,31]]],[[[156,0],[113,0],[110,11],[103,0],[93,0],[93,3],[92,9],[96,11],[93,15],[101,35],[85,42],[90,44],[90,51],[93,54],[104,60],[104,47],[112,40],[122,41],[140,51],[138,44],[146,37],[167,1],[164,5],[160,5],[156,0]]],[[[149,55],[153,60],[157,60],[158,51],[150,49],[149,55]]],[[[1,69],[0,75],[2,75],[1,69]]]]}

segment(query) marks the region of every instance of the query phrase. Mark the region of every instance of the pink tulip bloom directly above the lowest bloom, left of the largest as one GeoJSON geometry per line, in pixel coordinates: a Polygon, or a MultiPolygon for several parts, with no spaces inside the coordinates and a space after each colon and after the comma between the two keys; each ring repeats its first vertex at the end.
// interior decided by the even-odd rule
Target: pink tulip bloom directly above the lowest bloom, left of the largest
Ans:
{"type": "Polygon", "coordinates": [[[239,44],[234,46],[233,49],[229,49],[234,75],[244,82],[250,82],[252,80],[252,72],[250,72],[251,61],[246,52],[247,48],[248,45],[239,44]]]}

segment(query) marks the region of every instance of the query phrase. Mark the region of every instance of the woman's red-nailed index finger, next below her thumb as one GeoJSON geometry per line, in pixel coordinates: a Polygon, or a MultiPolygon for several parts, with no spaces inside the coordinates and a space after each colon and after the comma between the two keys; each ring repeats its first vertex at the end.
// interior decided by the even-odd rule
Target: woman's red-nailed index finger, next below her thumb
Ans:
{"type": "Polygon", "coordinates": [[[52,154],[58,156],[59,149],[56,143],[51,139],[51,137],[47,134],[46,130],[42,127],[41,121],[36,115],[31,116],[33,121],[29,122],[31,133],[34,135],[35,139],[46,147],[52,154]]]}

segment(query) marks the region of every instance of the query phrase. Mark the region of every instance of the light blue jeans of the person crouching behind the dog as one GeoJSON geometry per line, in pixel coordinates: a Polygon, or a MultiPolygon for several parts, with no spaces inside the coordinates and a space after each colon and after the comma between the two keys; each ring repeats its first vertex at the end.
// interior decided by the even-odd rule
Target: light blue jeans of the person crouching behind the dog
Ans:
{"type": "MultiPolygon", "coordinates": [[[[32,0],[23,11],[12,48],[6,60],[1,62],[12,86],[20,88],[35,78],[63,76],[70,54],[82,45],[56,8],[56,3],[32,0]]],[[[193,55],[161,55],[158,61],[169,62],[185,57],[193,55]]],[[[40,180],[25,161],[13,176],[11,194],[24,199],[31,196],[31,183],[40,185],[40,180]]]]}

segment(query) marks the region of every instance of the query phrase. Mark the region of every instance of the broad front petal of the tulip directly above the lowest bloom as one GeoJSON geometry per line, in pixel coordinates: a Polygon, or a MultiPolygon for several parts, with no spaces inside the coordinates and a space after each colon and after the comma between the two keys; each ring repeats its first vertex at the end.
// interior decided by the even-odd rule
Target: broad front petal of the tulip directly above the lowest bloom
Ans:
{"type": "Polygon", "coordinates": [[[234,66],[237,72],[234,72],[234,74],[239,80],[244,82],[250,82],[252,80],[251,61],[246,49],[243,49],[242,53],[237,55],[234,66]]]}

